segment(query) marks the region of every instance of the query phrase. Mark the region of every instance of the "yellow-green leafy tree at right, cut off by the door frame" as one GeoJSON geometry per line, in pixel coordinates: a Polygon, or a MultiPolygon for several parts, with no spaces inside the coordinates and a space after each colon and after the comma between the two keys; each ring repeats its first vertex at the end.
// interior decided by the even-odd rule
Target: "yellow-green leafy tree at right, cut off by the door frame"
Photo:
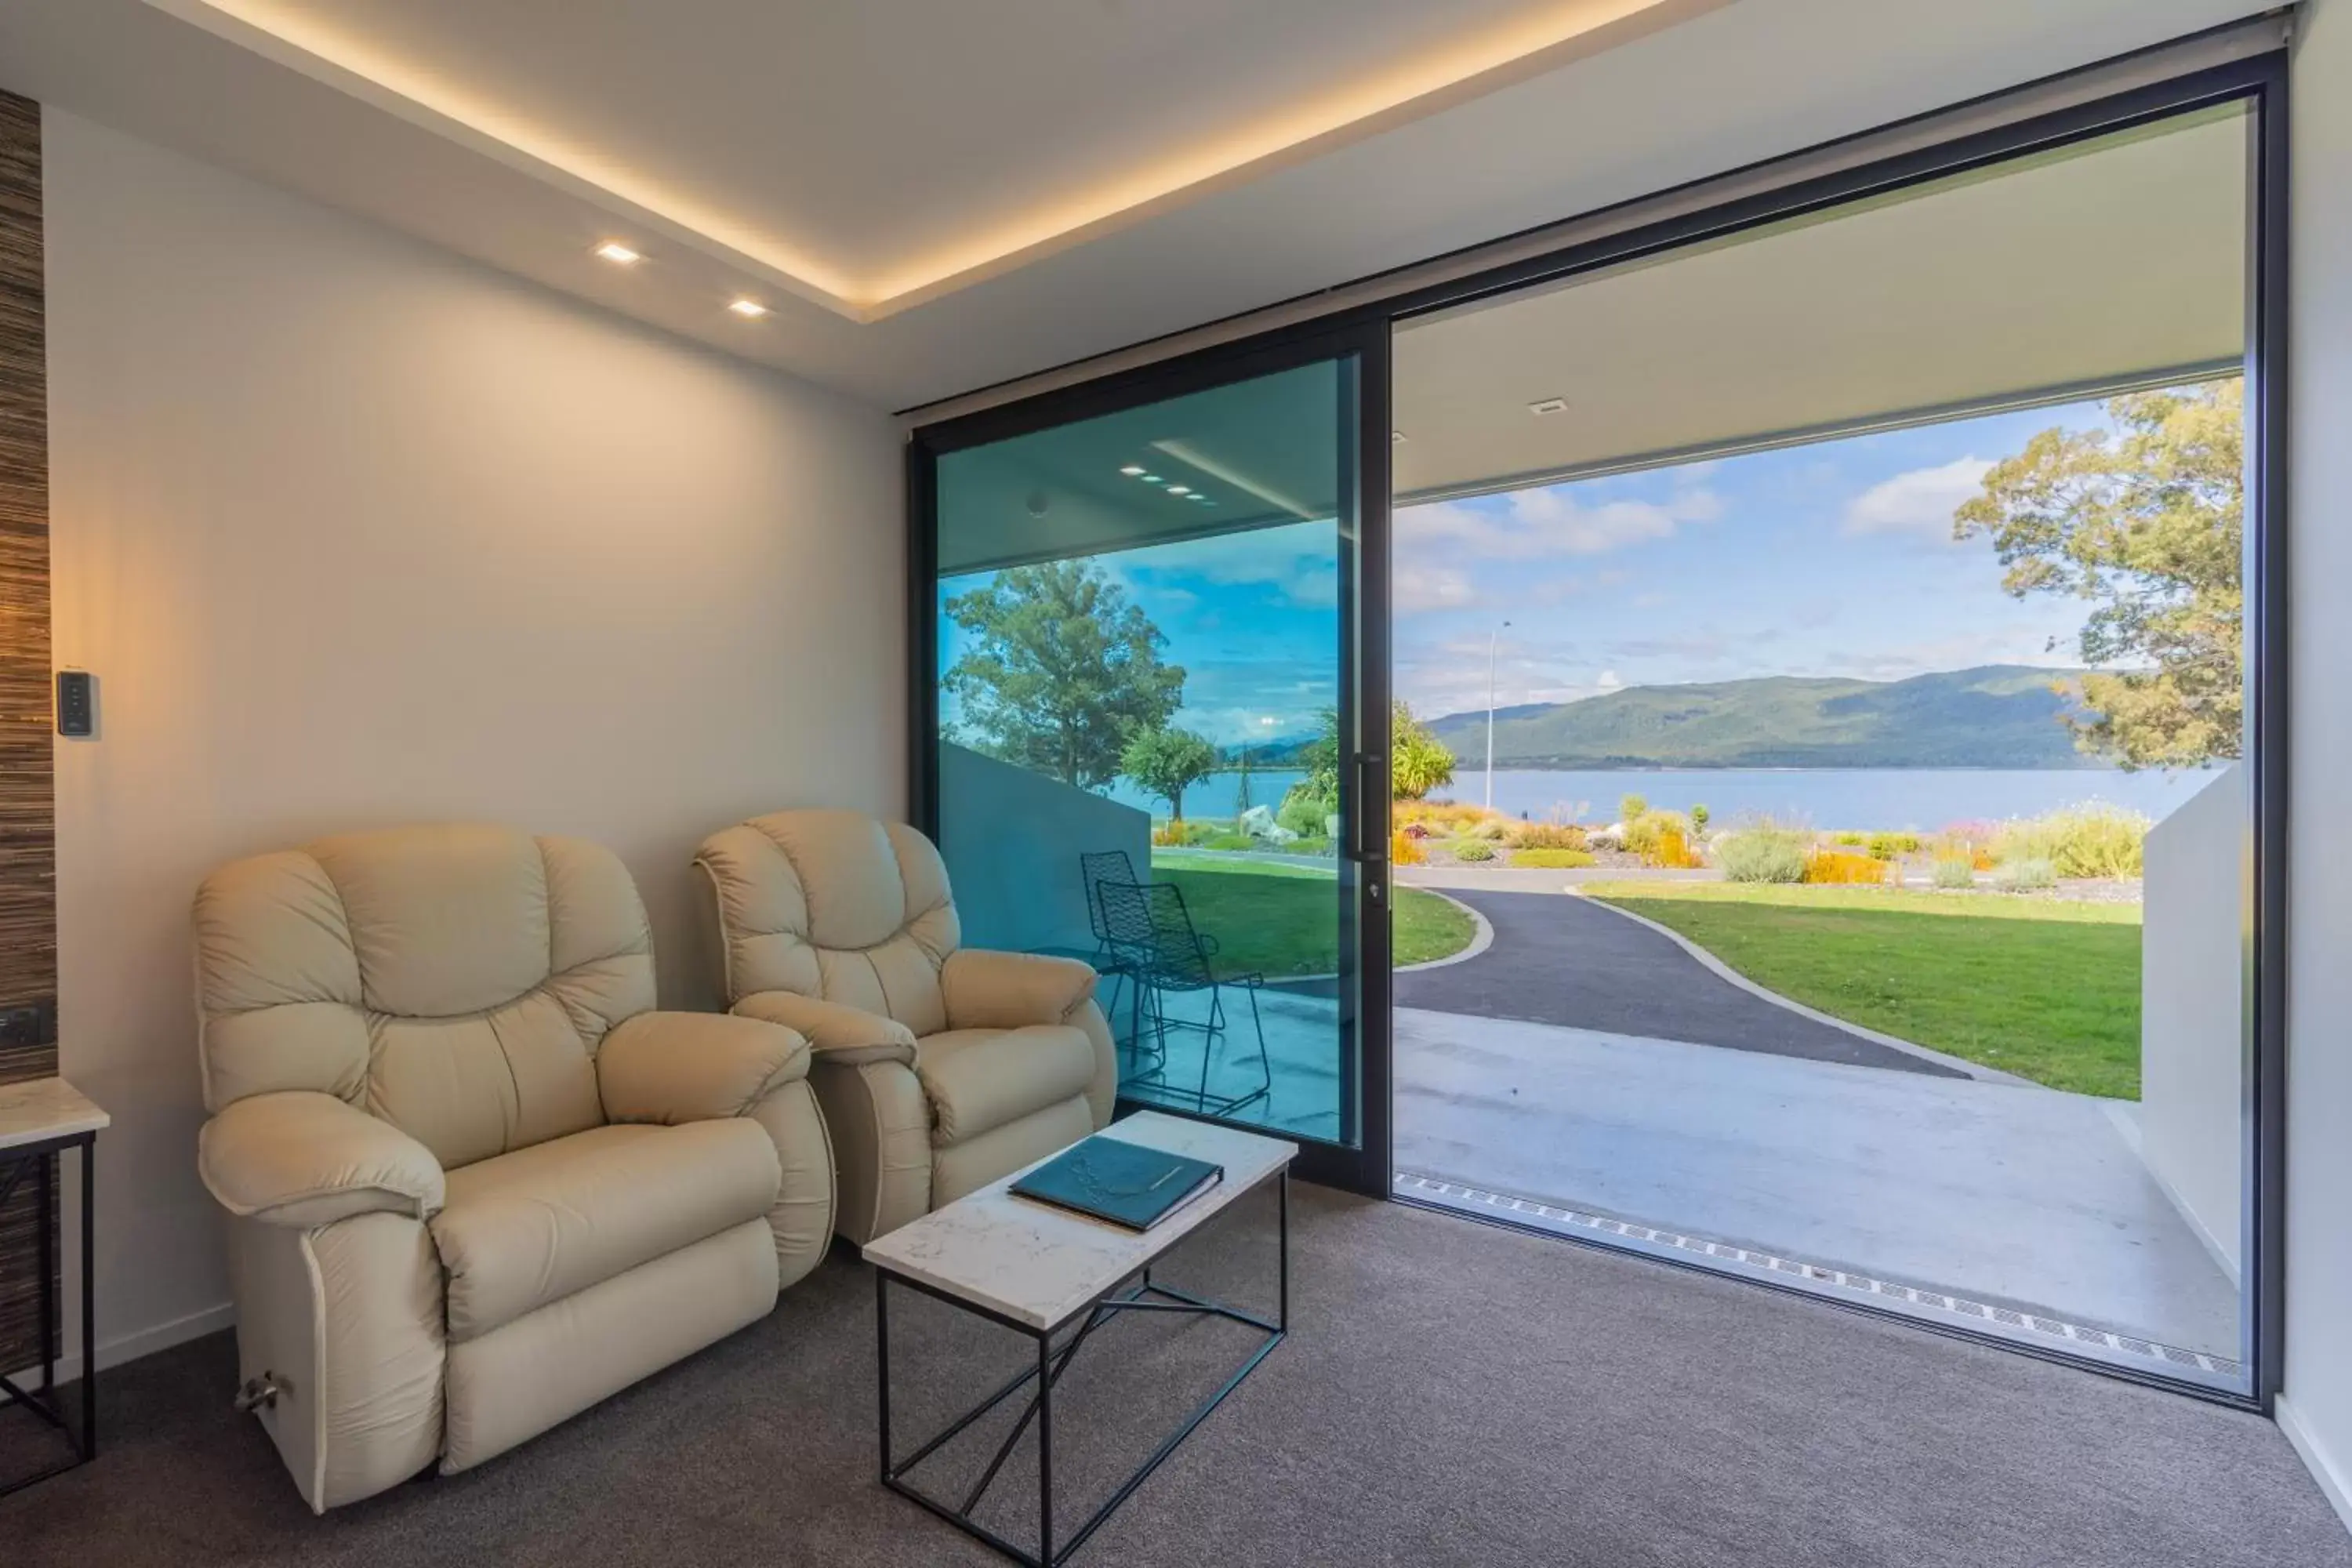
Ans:
{"type": "Polygon", "coordinates": [[[2044,430],[1985,475],[1952,536],[1987,534],[2016,597],[2096,604],[2074,745],[2126,769],[2239,755],[2246,386],[2107,402],[2117,430],[2044,430]],[[2112,668],[2122,665],[2122,668],[2112,668]]]}

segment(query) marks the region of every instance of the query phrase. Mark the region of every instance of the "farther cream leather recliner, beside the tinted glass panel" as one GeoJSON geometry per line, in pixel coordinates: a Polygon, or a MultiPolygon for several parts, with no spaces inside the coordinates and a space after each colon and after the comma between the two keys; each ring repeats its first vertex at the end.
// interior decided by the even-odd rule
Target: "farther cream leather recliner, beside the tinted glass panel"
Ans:
{"type": "Polygon", "coordinates": [[[840,1232],[870,1241],[1110,1124],[1120,1065],[1094,969],[960,945],[927,837],[776,811],[703,839],[724,992],[809,1037],[840,1232]]]}

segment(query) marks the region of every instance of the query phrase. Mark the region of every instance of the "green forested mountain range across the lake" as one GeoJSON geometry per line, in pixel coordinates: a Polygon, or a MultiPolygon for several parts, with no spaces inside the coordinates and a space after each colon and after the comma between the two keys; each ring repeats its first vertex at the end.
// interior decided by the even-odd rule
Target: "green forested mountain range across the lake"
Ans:
{"type": "MultiPolygon", "coordinates": [[[[1576,703],[1496,708],[1494,762],[1512,769],[2086,769],[2063,717],[2079,670],[1983,665],[1898,682],[1764,679],[1628,686],[1576,703]],[[2065,686],[2065,693],[2053,691],[2065,686]]],[[[1486,710],[1430,724],[1465,766],[1486,762],[1486,710]]]]}

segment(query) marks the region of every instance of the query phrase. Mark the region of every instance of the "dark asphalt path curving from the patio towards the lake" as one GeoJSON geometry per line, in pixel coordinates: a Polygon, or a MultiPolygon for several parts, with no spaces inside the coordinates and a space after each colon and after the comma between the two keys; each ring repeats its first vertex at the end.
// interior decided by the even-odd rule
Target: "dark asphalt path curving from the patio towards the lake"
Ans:
{"type": "Polygon", "coordinates": [[[1679,1039],[1816,1063],[1964,1079],[1943,1063],[1882,1046],[1731,985],[1672,940],[1562,893],[1449,886],[1494,926],[1461,964],[1397,976],[1397,1006],[1679,1039]]]}

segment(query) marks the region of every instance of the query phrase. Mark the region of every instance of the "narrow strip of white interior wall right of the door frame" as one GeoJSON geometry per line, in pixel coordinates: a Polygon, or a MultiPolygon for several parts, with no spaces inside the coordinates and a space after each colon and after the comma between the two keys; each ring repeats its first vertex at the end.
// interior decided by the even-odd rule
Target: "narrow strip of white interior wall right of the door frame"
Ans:
{"type": "Polygon", "coordinates": [[[2286,1394],[2352,1526],[2352,0],[2307,0],[2293,99],[2286,1394]]]}

